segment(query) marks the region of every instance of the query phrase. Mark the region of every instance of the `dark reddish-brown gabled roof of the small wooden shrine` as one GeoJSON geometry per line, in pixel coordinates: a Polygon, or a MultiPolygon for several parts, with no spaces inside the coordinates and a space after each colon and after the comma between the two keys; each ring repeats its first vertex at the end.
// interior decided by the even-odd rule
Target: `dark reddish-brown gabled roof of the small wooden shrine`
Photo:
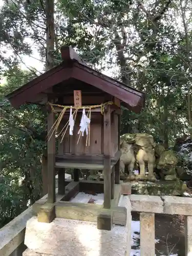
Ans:
{"type": "Polygon", "coordinates": [[[6,96],[14,108],[30,102],[32,98],[56,84],[74,78],[117,97],[125,108],[136,113],[141,111],[145,101],[144,93],[89,68],[70,47],[62,47],[61,56],[63,62],[60,65],[6,96]]]}

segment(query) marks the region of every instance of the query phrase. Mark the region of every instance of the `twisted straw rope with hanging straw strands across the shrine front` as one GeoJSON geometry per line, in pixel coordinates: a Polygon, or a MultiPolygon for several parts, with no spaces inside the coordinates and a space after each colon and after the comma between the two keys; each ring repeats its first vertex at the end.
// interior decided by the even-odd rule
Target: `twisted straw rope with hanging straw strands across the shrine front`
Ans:
{"type": "MultiPolygon", "coordinates": [[[[104,107],[105,105],[111,105],[113,104],[112,101],[108,101],[108,102],[105,102],[105,103],[102,103],[100,105],[91,105],[91,106],[63,106],[63,105],[59,105],[59,104],[52,104],[50,102],[48,102],[48,104],[51,106],[51,109],[54,113],[57,113],[54,109],[54,106],[57,106],[59,108],[62,108],[57,120],[54,122],[53,126],[51,127],[49,133],[48,133],[48,140],[50,140],[51,136],[58,131],[58,127],[59,127],[59,124],[63,118],[63,115],[65,114],[66,110],[67,109],[73,109],[75,110],[73,112],[73,117],[74,117],[74,124],[75,124],[75,120],[76,120],[76,116],[77,116],[77,112],[78,110],[88,110],[88,118],[91,120],[91,110],[92,109],[96,109],[96,108],[101,108],[101,114],[103,115],[104,114],[104,107]],[[51,135],[50,135],[51,134],[51,135]],[[50,136],[49,136],[50,135],[50,136]]],[[[60,133],[58,134],[61,135],[61,140],[60,140],[60,143],[62,142],[67,130],[68,130],[68,127],[69,127],[69,120],[68,122],[66,123],[66,125],[62,128],[62,130],[60,131],[60,133]]],[[[79,134],[79,138],[78,138],[78,141],[77,141],[77,144],[79,142],[79,139],[80,139],[80,136],[81,136],[82,132],[80,132],[79,134]]],[[[88,135],[87,135],[87,138],[86,138],[86,146],[87,145],[90,145],[90,123],[89,123],[89,127],[88,127],[88,135]]]]}

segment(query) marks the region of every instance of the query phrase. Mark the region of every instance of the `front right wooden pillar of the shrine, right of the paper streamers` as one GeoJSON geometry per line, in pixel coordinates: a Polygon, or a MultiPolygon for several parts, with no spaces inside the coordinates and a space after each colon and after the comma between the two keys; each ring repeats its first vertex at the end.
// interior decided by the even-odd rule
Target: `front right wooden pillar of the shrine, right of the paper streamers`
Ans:
{"type": "Polygon", "coordinates": [[[103,153],[104,153],[104,203],[105,209],[111,208],[111,108],[106,105],[103,117],[103,153]]]}

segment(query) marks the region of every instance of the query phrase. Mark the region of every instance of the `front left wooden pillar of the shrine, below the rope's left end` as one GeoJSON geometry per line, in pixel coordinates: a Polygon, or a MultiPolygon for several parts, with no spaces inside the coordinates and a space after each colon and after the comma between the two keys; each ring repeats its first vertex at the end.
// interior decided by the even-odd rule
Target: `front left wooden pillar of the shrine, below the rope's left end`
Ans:
{"type": "Polygon", "coordinates": [[[49,133],[55,122],[55,113],[50,110],[48,113],[48,203],[55,203],[55,132],[50,137],[49,133]]]}

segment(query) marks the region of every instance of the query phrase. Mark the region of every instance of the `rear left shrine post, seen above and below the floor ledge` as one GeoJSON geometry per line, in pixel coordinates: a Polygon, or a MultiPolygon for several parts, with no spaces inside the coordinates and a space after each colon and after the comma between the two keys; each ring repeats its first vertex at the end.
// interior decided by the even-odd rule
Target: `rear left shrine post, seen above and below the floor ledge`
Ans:
{"type": "MultiPolygon", "coordinates": [[[[58,138],[58,155],[64,153],[64,144],[61,137],[58,138]]],[[[65,195],[65,168],[58,169],[58,195],[65,195]]]]}

